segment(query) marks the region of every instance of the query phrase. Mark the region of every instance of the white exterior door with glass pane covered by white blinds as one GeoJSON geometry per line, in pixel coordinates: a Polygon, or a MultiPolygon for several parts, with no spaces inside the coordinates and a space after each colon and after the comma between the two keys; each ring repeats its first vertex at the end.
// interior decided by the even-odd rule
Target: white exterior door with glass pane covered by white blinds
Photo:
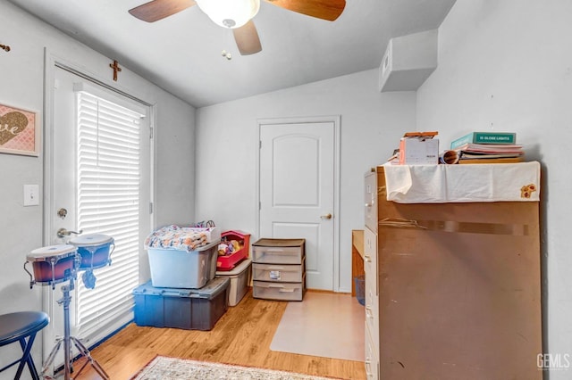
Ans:
{"type": "MultiPolygon", "coordinates": [[[[150,230],[148,106],[55,68],[52,129],[46,136],[49,244],[76,233],[114,239],[111,265],[96,268],[95,287],[78,272],[71,297],[71,335],[87,346],[132,319],[142,241],[150,230]],[[64,228],[70,235],[58,237],[64,228]]],[[[48,123],[50,125],[50,123],[48,123]]],[[[46,289],[51,334],[63,335],[59,286],[46,289]]],[[[45,339],[45,346],[54,343],[45,339]]],[[[49,350],[48,350],[49,352],[49,350]]]]}

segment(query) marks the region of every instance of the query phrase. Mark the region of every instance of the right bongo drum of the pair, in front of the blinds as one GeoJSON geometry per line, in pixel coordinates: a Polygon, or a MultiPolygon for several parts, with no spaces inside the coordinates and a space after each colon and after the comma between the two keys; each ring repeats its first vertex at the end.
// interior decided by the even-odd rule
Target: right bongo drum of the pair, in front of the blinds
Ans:
{"type": "Polygon", "coordinates": [[[103,234],[80,235],[71,239],[70,244],[77,247],[80,254],[79,270],[103,268],[111,264],[109,257],[115,249],[114,238],[111,236],[103,234]]]}

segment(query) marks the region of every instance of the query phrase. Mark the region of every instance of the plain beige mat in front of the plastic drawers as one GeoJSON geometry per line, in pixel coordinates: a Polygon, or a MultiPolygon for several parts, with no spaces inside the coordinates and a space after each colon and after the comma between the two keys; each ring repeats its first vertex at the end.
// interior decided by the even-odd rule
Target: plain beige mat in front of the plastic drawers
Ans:
{"type": "Polygon", "coordinates": [[[270,350],[364,361],[366,311],[355,297],[307,292],[289,302],[270,350]]]}

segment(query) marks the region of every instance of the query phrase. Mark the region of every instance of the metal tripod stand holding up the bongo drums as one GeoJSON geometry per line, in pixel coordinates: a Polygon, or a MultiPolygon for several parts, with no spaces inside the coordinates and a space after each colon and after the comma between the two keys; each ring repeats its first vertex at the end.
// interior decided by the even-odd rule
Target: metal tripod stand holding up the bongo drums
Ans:
{"type": "Polygon", "coordinates": [[[49,380],[52,379],[50,376],[46,376],[46,371],[50,368],[52,363],[54,362],[55,355],[57,351],[60,350],[63,342],[63,378],[65,380],[71,379],[70,375],[73,372],[73,367],[71,366],[71,343],[75,345],[75,347],[80,351],[80,356],[84,356],[86,358],[86,362],[83,363],[80,370],[77,372],[77,375],[80,375],[80,372],[85,368],[88,363],[97,371],[97,374],[101,376],[101,378],[105,380],[109,380],[109,375],[105,373],[104,368],[101,368],[99,363],[97,363],[96,359],[91,357],[86,346],[80,342],[80,340],[74,336],[70,335],[70,302],[71,302],[71,295],[70,291],[74,289],[73,286],[73,277],[70,279],[70,285],[63,285],[62,286],[62,293],[63,298],[58,300],[57,303],[59,305],[63,305],[63,337],[58,337],[56,339],[56,343],[54,349],[50,352],[49,356],[46,359],[46,364],[42,368],[42,376],[44,379],[49,380]]]}

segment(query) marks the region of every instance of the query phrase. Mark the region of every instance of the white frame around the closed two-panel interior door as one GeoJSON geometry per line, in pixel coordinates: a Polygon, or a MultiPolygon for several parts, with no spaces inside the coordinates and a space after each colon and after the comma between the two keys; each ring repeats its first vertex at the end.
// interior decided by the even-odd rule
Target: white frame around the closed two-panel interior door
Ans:
{"type": "Polygon", "coordinates": [[[335,293],[340,289],[340,115],[332,116],[307,116],[290,118],[272,118],[257,120],[257,146],[256,154],[256,202],[255,220],[257,236],[260,236],[260,132],[263,126],[283,125],[283,124],[309,124],[309,123],[333,123],[333,289],[335,293]]]}

